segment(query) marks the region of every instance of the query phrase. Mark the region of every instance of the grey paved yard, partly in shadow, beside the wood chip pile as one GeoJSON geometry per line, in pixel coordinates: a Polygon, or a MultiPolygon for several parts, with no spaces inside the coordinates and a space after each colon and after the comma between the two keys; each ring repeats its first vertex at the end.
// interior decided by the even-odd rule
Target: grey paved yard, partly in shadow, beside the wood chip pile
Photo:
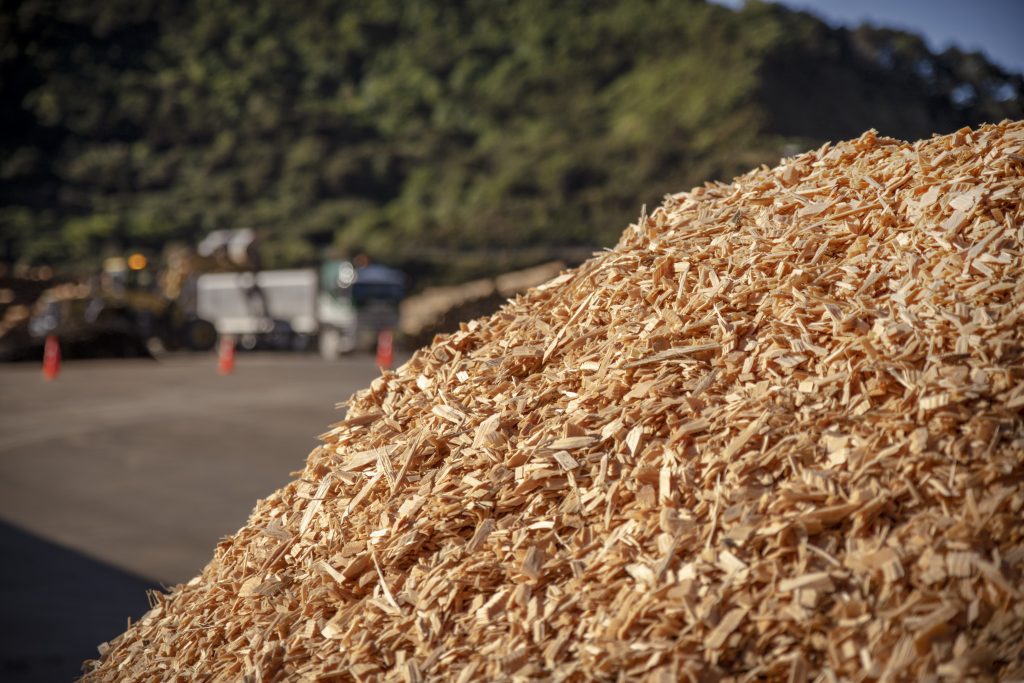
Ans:
{"type": "Polygon", "coordinates": [[[371,355],[237,358],[226,377],[211,354],[69,361],[52,382],[0,366],[0,632],[19,633],[0,679],[74,675],[47,667],[93,655],[144,609],[141,587],[198,573],[379,374],[371,355]]]}

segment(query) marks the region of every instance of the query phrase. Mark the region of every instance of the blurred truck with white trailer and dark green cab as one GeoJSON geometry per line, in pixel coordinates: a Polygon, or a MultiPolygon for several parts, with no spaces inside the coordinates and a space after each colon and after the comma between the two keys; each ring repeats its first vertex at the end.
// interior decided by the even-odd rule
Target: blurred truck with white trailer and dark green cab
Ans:
{"type": "Polygon", "coordinates": [[[245,349],[306,349],[334,359],[373,348],[398,327],[406,276],[379,264],[211,272],[197,281],[197,314],[245,349]]]}

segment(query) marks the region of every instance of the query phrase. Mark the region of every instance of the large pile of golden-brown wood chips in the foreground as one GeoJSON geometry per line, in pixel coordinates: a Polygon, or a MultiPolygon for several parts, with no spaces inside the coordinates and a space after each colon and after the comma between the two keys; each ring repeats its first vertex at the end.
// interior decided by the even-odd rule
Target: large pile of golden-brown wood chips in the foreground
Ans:
{"type": "Polygon", "coordinates": [[[1024,679],[1024,122],[669,197],[437,338],[89,680],[1024,679]]]}

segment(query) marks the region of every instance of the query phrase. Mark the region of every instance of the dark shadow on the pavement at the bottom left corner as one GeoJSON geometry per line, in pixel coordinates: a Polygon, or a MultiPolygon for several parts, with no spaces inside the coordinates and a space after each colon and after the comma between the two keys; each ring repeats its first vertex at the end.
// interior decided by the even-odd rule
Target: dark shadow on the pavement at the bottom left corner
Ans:
{"type": "Polygon", "coordinates": [[[0,521],[0,680],[71,681],[148,609],[154,582],[0,521]]]}

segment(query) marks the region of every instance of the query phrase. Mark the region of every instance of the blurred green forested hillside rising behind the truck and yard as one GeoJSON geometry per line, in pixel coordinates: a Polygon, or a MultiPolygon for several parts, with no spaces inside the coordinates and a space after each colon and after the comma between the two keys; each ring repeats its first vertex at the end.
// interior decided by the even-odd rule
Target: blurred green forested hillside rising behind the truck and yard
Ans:
{"type": "Polygon", "coordinates": [[[1024,117],[1022,78],[979,54],[757,2],[2,8],[7,261],[240,226],[271,265],[605,246],[642,203],[787,151],[1024,117]]]}

